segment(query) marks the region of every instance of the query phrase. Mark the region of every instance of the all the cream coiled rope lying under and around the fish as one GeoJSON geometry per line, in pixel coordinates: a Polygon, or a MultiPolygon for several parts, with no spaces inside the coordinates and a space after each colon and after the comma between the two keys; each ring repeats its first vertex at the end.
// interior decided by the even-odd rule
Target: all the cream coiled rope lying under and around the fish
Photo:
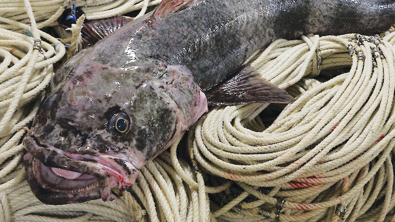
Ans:
{"type": "MultiPolygon", "coordinates": [[[[159,1],[76,4],[98,19],[142,15],[159,1]]],[[[0,0],[0,221],[395,220],[395,32],[278,39],[248,62],[294,103],[213,108],[122,197],[42,204],[25,180],[21,140],[65,59],[64,44],[40,28],[73,4],[0,0]]]]}

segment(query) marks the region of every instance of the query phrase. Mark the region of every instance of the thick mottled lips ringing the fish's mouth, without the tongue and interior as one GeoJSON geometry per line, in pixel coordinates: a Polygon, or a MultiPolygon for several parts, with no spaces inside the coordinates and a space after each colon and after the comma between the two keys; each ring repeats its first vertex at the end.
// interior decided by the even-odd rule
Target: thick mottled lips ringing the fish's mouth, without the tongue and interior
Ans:
{"type": "Polygon", "coordinates": [[[125,170],[121,171],[119,169],[120,167],[117,168],[116,166],[112,166],[111,164],[103,165],[97,162],[95,163],[92,161],[86,161],[86,159],[75,160],[74,158],[71,158],[67,154],[70,155],[72,154],[79,155],[79,154],[70,153],[58,148],[41,145],[40,143],[38,143],[36,137],[32,133],[29,133],[26,136],[23,144],[24,147],[28,150],[29,152],[28,154],[32,156],[30,163],[28,156],[25,155],[27,159],[25,160],[25,169],[27,171],[29,185],[31,186],[32,191],[35,193],[36,197],[38,197],[40,200],[42,199],[41,201],[44,203],[48,203],[48,204],[76,203],[76,202],[84,202],[87,200],[98,199],[100,197],[104,201],[112,200],[115,199],[115,196],[111,190],[118,186],[121,195],[124,190],[126,190],[128,187],[134,184],[139,173],[138,170],[133,167],[135,169],[133,170],[133,175],[131,175],[131,177],[129,175],[130,178],[126,179],[127,172],[125,172],[125,170]],[[64,161],[66,165],[65,164],[60,165],[56,163],[54,157],[57,157],[58,159],[64,161]],[[35,178],[36,176],[33,171],[33,159],[39,160],[43,165],[48,167],[56,167],[56,168],[61,168],[65,170],[70,170],[82,174],[95,176],[99,184],[99,188],[97,189],[98,192],[96,192],[97,190],[87,190],[87,191],[92,191],[93,194],[84,191],[82,194],[85,197],[76,199],[76,195],[73,196],[70,193],[68,193],[68,195],[61,195],[59,192],[54,192],[45,189],[43,186],[40,185],[40,183],[38,183],[37,178],[35,178]],[[100,195],[98,196],[97,193],[99,193],[100,195]],[[50,199],[48,199],[48,195],[51,197],[50,199]],[[60,198],[58,198],[59,195],[60,198]],[[62,200],[62,198],[64,199],[62,200]]]}

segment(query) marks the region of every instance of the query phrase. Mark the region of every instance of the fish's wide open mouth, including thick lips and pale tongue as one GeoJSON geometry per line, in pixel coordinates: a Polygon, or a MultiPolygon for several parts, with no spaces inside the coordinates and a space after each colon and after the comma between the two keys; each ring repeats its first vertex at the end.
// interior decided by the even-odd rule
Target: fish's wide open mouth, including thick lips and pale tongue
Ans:
{"type": "Polygon", "coordinates": [[[33,135],[25,138],[28,183],[45,204],[80,203],[101,198],[113,200],[134,184],[139,171],[120,155],[76,154],[40,145],[33,135]]]}

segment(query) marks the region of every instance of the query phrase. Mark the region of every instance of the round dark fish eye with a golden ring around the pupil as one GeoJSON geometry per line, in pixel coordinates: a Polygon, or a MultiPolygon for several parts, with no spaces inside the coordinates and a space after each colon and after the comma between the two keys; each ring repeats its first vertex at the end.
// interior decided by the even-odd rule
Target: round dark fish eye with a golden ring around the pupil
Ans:
{"type": "Polygon", "coordinates": [[[107,131],[118,137],[125,135],[129,128],[130,118],[123,111],[114,113],[107,124],[107,131]]]}

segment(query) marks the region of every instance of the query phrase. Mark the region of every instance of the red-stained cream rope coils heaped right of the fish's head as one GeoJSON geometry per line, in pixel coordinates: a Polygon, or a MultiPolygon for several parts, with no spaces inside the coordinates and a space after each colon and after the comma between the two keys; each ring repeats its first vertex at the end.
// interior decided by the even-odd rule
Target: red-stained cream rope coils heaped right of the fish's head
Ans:
{"type": "Polygon", "coordinates": [[[253,61],[273,83],[292,85],[298,97],[267,129],[257,117],[267,105],[216,108],[197,123],[189,140],[194,158],[239,189],[213,215],[226,221],[393,221],[393,37],[280,39],[253,61]],[[312,78],[319,70],[316,54],[322,70],[351,69],[320,82],[312,78]],[[236,206],[243,214],[228,211],[236,206]]]}

